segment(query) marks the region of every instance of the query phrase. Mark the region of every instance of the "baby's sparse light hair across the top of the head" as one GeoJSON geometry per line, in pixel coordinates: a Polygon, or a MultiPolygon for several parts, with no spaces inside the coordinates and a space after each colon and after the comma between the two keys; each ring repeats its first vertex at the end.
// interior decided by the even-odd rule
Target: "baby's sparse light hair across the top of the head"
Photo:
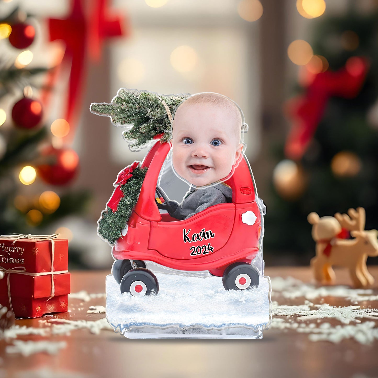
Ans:
{"type": "Polygon", "coordinates": [[[242,115],[240,114],[239,108],[232,102],[230,99],[217,95],[216,93],[200,93],[198,95],[190,96],[180,105],[178,105],[177,109],[175,110],[174,116],[176,116],[178,110],[188,105],[196,105],[196,104],[213,104],[217,105],[221,109],[228,110],[232,113],[232,117],[236,124],[236,132],[237,138],[240,141],[240,132],[242,130],[242,115]]]}

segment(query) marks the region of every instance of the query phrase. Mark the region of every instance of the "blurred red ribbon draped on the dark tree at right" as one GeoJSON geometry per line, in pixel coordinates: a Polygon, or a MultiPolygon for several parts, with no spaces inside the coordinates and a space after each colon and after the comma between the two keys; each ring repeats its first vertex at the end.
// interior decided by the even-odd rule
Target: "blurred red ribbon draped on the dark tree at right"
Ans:
{"type": "Polygon", "coordinates": [[[302,158],[331,96],[351,99],[358,95],[368,67],[366,59],[351,57],[345,67],[336,72],[316,74],[305,95],[287,102],[286,112],[291,119],[291,129],[285,144],[285,155],[288,158],[302,158]]]}

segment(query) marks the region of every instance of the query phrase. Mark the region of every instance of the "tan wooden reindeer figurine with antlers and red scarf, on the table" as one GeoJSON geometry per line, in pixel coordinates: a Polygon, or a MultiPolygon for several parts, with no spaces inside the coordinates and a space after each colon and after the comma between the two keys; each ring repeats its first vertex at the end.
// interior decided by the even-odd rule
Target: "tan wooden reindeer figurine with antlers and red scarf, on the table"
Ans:
{"type": "Polygon", "coordinates": [[[335,283],[333,265],[348,268],[355,287],[372,285],[374,279],[367,271],[367,256],[378,256],[378,231],[366,231],[365,209],[349,209],[348,214],[322,217],[308,215],[313,225],[312,237],[316,242],[316,256],[311,259],[315,279],[322,283],[335,283]],[[343,230],[350,231],[354,239],[345,239],[343,230]]]}

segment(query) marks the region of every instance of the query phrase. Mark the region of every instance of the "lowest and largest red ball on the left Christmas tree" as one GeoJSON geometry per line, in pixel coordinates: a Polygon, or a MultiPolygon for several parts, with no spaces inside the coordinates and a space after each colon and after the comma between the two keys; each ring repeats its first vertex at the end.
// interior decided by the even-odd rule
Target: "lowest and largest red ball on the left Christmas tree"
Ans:
{"type": "Polygon", "coordinates": [[[77,174],[79,156],[74,150],[50,146],[43,150],[41,155],[48,163],[37,166],[37,172],[45,183],[67,185],[77,174]]]}

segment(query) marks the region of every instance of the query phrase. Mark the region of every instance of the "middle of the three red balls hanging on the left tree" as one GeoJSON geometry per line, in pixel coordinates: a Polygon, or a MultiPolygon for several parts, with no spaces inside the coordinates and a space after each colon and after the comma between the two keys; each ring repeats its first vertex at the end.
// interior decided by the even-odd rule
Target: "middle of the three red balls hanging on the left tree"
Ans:
{"type": "Polygon", "coordinates": [[[42,119],[42,104],[32,98],[22,98],[13,106],[12,119],[21,129],[33,129],[42,119]]]}

